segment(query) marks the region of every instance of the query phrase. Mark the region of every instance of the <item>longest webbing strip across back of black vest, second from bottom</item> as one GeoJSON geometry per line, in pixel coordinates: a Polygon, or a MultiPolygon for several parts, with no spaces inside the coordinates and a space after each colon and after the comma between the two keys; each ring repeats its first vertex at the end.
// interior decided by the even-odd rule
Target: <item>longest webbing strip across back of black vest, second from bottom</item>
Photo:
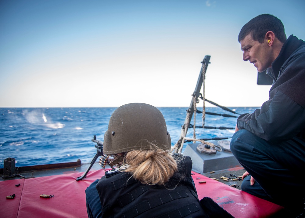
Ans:
{"type": "Polygon", "coordinates": [[[142,202],[135,207],[127,210],[123,215],[125,218],[133,218],[149,209],[165,204],[172,200],[185,197],[188,197],[188,194],[185,191],[171,191],[166,194],[151,198],[148,201],[142,202]]]}

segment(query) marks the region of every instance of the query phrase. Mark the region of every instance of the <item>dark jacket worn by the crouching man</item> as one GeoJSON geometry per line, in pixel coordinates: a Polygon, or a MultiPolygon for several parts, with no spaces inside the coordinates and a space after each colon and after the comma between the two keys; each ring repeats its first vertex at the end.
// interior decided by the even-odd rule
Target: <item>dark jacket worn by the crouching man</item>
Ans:
{"type": "Polygon", "coordinates": [[[252,114],[240,115],[238,129],[272,143],[305,139],[305,42],[291,35],[267,73],[274,80],[270,99],[252,114]]]}

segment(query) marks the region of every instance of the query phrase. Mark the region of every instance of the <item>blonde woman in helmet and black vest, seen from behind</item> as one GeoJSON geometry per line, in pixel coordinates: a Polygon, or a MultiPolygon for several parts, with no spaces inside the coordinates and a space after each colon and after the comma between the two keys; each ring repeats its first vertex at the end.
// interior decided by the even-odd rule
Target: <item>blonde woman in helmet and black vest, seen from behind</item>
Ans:
{"type": "Polygon", "coordinates": [[[162,113],[149,104],[117,108],[104,154],[118,167],[86,190],[89,217],[209,217],[191,177],[190,157],[173,154],[162,113]]]}

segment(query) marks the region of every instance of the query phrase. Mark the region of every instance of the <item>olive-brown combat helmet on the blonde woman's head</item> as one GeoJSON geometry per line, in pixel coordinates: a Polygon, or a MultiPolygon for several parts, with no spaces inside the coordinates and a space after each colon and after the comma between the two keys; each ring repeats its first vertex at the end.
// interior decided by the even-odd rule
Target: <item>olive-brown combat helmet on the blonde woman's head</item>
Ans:
{"type": "Polygon", "coordinates": [[[154,106],[131,103],[118,107],[110,117],[104,135],[104,154],[118,154],[131,150],[147,150],[149,143],[162,150],[171,149],[162,113],[154,106]]]}

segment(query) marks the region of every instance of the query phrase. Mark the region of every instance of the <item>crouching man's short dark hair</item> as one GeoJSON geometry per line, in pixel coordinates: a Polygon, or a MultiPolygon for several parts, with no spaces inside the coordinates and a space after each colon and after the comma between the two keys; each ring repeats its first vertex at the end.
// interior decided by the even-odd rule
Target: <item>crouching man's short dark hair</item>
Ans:
{"type": "Polygon", "coordinates": [[[284,25],[280,19],[271,14],[261,14],[242,27],[238,35],[238,42],[251,33],[255,41],[263,43],[268,31],[274,32],[275,37],[283,43],[287,39],[284,25]]]}

